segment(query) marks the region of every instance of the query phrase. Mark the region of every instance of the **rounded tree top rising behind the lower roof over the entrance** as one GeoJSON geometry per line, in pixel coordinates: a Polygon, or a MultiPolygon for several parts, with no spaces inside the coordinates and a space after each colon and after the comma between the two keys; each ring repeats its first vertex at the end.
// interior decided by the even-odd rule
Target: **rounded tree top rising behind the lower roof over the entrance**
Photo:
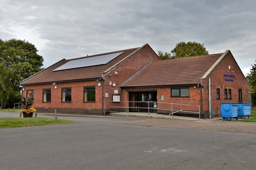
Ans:
{"type": "Polygon", "coordinates": [[[188,43],[182,41],[176,44],[175,48],[171,51],[173,58],[190,57],[197,55],[208,55],[208,51],[204,47],[204,44],[197,43],[195,41],[188,43]]]}

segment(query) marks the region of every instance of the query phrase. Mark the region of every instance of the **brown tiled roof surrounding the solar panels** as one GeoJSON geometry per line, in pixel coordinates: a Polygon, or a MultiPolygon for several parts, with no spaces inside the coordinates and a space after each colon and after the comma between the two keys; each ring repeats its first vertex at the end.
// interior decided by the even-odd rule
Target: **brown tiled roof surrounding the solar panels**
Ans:
{"type": "MultiPolygon", "coordinates": [[[[142,46],[143,47],[143,46],[142,46]]],[[[94,79],[99,78],[102,75],[102,72],[108,70],[108,68],[112,67],[114,64],[120,62],[122,59],[126,58],[127,56],[134,53],[141,47],[133,48],[133,49],[126,49],[120,51],[114,51],[110,53],[92,55],[88,57],[95,57],[99,55],[107,55],[112,53],[124,52],[112,61],[107,64],[97,65],[97,66],[88,66],[82,68],[73,68],[68,70],[58,70],[53,71],[54,69],[62,66],[63,64],[67,63],[68,61],[76,60],[76,59],[83,59],[86,57],[80,57],[76,59],[69,59],[69,60],[61,60],[56,64],[38,72],[34,76],[27,78],[21,82],[22,85],[28,84],[43,84],[43,83],[51,83],[51,82],[64,82],[64,81],[75,81],[75,80],[86,80],[86,79],[94,79]]]]}

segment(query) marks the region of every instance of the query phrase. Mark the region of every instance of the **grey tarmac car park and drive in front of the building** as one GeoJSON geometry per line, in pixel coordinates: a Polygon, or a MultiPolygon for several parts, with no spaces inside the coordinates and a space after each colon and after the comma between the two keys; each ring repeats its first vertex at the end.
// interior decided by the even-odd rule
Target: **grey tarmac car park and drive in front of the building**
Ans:
{"type": "MultiPolygon", "coordinates": [[[[0,117],[17,115],[0,112],[0,117]]],[[[110,116],[58,118],[77,123],[0,129],[0,169],[256,167],[256,123],[110,116]]]]}

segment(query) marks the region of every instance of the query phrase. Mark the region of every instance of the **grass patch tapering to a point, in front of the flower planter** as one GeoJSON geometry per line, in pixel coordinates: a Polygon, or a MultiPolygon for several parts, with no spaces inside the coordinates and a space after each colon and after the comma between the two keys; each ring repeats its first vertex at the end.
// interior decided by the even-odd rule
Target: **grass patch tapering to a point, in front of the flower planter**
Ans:
{"type": "Polygon", "coordinates": [[[64,119],[52,119],[52,118],[20,118],[20,117],[7,117],[0,118],[0,128],[10,127],[26,127],[26,126],[43,126],[43,125],[59,125],[74,123],[75,121],[64,119]]]}

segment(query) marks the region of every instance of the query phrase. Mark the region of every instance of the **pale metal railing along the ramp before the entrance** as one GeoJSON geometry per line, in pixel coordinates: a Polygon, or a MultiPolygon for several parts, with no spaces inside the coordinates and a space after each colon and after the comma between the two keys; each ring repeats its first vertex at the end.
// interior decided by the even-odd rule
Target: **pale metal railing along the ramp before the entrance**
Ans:
{"type": "MultiPolygon", "coordinates": [[[[112,102],[112,101],[110,101],[110,102],[112,102]]],[[[196,113],[196,114],[199,115],[199,120],[200,120],[200,106],[197,106],[197,105],[174,104],[174,103],[164,103],[164,102],[131,102],[131,101],[122,101],[122,102],[127,103],[127,106],[110,106],[110,112],[116,112],[116,111],[111,111],[111,108],[125,108],[127,110],[127,113],[132,113],[132,112],[129,111],[129,109],[130,108],[135,108],[135,111],[136,110],[138,111],[138,109],[147,109],[148,114],[150,114],[150,109],[152,109],[152,110],[155,109],[155,110],[157,110],[157,112],[158,112],[158,110],[164,110],[166,112],[169,111],[169,112],[171,112],[171,113],[169,113],[169,115],[172,115],[172,117],[174,117],[174,115],[173,115],[174,113],[178,113],[178,112],[182,111],[183,113],[196,113]],[[130,107],[129,103],[135,103],[134,104],[135,107],[130,107]],[[137,107],[136,103],[147,103],[148,107],[137,107]],[[156,107],[150,107],[150,103],[152,103],[152,105],[156,104],[156,107]],[[170,109],[158,108],[158,104],[167,104],[167,105],[170,106],[170,109]],[[196,110],[196,111],[189,111],[189,110],[185,110],[185,109],[175,109],[174,106],[179,106],[179,107],[189,106],[189,107],[195,107],[197,109],[193,109],[193,110],[196,110]]],[[[118,112],[120,112],[120,111],[118,111],[118,112]]],[[[154,113],[151,113],[151,114],[154,114],[154,113]]]]}

